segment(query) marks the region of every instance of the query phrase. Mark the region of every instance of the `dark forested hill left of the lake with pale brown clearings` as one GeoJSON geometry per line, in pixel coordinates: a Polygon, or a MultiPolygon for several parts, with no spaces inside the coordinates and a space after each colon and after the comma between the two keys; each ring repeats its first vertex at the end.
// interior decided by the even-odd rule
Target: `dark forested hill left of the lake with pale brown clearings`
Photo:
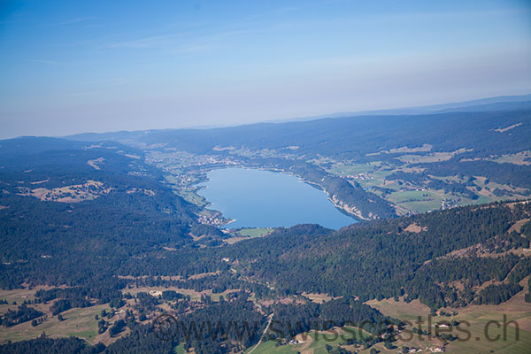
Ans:
{"type": "Polygon", "coordinates": [[[22,154],[26,141],[0,149],[4,289],[86,284],[116,275],[110,269],[134,254],[191,241],[194,206],[162,187],[137,151],[43,139],[22,154]]]}

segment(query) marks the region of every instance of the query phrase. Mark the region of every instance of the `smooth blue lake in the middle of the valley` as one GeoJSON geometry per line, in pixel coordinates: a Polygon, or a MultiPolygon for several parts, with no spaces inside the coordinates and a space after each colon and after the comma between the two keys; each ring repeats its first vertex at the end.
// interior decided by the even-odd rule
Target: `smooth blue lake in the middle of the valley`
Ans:
{"type": "Polygon", "coordinates": [[[297,177],[247,168],[225,168],[208,174],[198,194],[236,227],[291,227],[319,224],[340,228],[357,222],[335,208],[324,191],[297,177]]]}

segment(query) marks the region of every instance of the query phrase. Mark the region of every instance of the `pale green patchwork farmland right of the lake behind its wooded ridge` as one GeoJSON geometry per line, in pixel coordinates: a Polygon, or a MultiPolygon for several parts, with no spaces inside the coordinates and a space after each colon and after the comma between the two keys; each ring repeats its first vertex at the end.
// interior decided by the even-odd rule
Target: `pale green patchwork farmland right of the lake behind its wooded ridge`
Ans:
{"type": "MultiPolygon", "coordinates": [[[[410,164],[447,161],[463,152],[466,152],[466,150],[461,149],[450,152],[433,152],[423,155],[406,154],[397,157],[398,160],[405,163],[404,165],[395,165],[392,161],[356,163],[350,160],[339,161],[333,158],[319,158],[309,162],[322,166],[328,173],[347,178],[351,182],[357,182],[364,189],[368,189],[374,194],[381,196],[395,206],[396,212],[399,215],[404,215],[409,212],[429,212],[438,210],[442,207],[447,208],[457,205],[485,204],[526,197],[527,189],[496,184],[492,181],[486,182],[486,178],[481,176],[474,176],[474,186],[469,187],[469,189],[472,188],[471,190],[479,196],[478,199],[471,199],[458,193],[446,193],[442,189],[428,189],[425,183],[419,183],[419,185],[417,185],[412,181],[388,180],[389,175],[393,173],[422,172],[421,168],[410,164]],[[374,188],[384,188],[389,191],[384,192],[381,189],[374,188]],[[496,193],[494,192],[495,190],[496,193]]],[[[382,153],[389,153],[389,151],[384,151],[382,153]]],[[[504,155],[503,157],[496,158],[496,162],[527,165],[531,164],[531,161],[529,161],[530,158],[531,152],[523,151],[518,154],[504,155]]],[[[493,159],[493,161],[494,160],[495,159],[493,159]]],[[[447,183],[463,184],[467,182],[467,179],[459,178],[459,176],[441,177],[428,175],[427,181],[429,181],[429,179],[445,181],[447,183]]]]}

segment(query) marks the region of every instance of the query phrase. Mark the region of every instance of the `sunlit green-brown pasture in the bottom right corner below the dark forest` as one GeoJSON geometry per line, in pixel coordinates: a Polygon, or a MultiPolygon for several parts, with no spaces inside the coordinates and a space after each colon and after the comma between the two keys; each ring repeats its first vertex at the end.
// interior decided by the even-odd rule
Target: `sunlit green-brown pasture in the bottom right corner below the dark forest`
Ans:
{"type": "MultiPolygon", "coordinates": [[[[382,301],[371,300],[366,302],[377,308],[385,315],[411,322],[406,330],[398,335],[397,341],[393,342],[395,349],[388,350],[383,343],[377,343],[372,348],[379,350],[381,353],[400,352],[404,347],[416,348],[422,353],[430,353],[436,348],[445,347],[446,352],[450,353],[510,353],[525,354],[531,348],[531,304],[523,301],[523,292],[512,297],[511,300],[500,305],[470,305],[460,309],[444,309],[445,312],[456,312],[452,317],[433,316],[430,317],[429,308],[420,304],[419,300],[413,300],[405,303],[401,298],[398,302],[393,299],[382,301]],[[419,316],[424,323],[421,324],[423,329],[429,329],[432,335],[413,335],[412,327],[418,327],[419,316]],[[504,319],[505,316],[505,319],[504,319]],[[435,329],[435,324],[457,320],[459,327],[435,329]],[[518,323],[518,340],[517,329],[514,323],[518,323]],[[429,321],[429,325],[428,322],[429,321]],[[489,321],[490,322],[489,324],[489,321]],[[496,321],[496,322],[494,322],[496,321]],[[499,323],[499,327],[497,327],[499,323]],[[439,333],[453,333],[458,339],[453,342],[443,342],[435,337],[435,330],[439,333]],[[499,337],[498,337],[499,335],[499,337]]],[[[407,322],[406,322],[407,323],[407,322]]],[[[358,328],[355,329],[356,333],[358,328]]],[[[368,334],[366,334],[368,335],[368,334]]],[[[326,346],[330,345],[336,349],[338,346],[352,352],[368,354],[370,349],[364,349],[360,346],[346,345],[345,340],[351,337],[351,332],[346,332],[342,328],[335,328],[334,332],[316,334],[315,331],[305,335],[297,335],[296,339],[300,342],[295,344],[277,345],[275,341],[264,342],[258,346],[255,353],[296,353],[316,354],[327,353],[326,346]],[[317,335],[317,338],[316,338],[317,335]],[[305,340],[303,340],[305,337],[305,340]],[[317,339],[317,340],[316,340],[317,339]]],[[[247,351],[247,353],[250,350],[247,351]]]]}

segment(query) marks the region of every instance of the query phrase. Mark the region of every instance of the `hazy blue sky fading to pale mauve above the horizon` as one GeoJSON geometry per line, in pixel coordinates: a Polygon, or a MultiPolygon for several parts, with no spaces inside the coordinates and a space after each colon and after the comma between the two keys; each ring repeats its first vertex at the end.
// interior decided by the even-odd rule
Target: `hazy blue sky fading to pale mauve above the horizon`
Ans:
{"type": "Polygon", "coordinates": [[[527,93],[528,0],[0,0],[0,138],[527,93]]]}

